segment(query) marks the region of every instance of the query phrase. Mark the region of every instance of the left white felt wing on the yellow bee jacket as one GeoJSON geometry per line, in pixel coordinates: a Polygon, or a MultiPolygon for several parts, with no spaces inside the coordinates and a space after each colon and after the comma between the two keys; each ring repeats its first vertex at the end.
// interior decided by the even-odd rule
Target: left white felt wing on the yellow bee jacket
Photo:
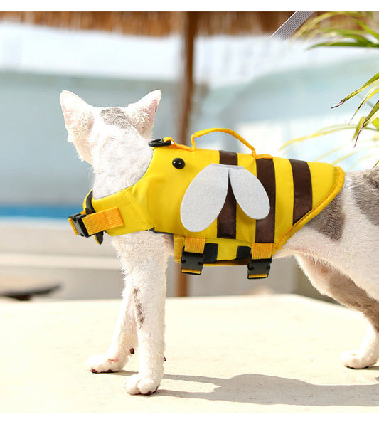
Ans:
{"type": "Polygon", "coordinates": [[[228,167],[209,164],[189,184],[181,201],[181,223],[191,232],[208,228],[217,218],[228,192],[228,167]]]}

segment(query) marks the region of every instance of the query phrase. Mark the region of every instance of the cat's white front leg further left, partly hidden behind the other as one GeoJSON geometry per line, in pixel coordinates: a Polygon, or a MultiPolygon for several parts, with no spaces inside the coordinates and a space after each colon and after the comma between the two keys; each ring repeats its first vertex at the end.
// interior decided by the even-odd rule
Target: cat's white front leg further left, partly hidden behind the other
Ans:
{"type": "Polygon", "coordinates": [[[110,347],[105,354],[90,356],[87,359],[87,368],[92,372],[119,371],[127,364],[129,356],[134,354],[134,347],[137,345],[137,330],[132,287],[127,280],[123,296],[110,347]]]}

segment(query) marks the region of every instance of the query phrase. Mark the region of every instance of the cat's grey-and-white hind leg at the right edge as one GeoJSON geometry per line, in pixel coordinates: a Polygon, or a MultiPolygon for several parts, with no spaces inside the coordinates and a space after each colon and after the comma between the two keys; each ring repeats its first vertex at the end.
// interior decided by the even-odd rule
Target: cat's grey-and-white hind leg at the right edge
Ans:
{"type": "Polygon", "coordinates": [[[299,264],[321,294],[329,295],[342,305],[363,313],[370,322],[361,348],[341,354],[341,360],[349,368],[361,369],[375,364],[379,359],[379,302],[369,297],[350,277],[306,255],[297,255],[299,264]]]}

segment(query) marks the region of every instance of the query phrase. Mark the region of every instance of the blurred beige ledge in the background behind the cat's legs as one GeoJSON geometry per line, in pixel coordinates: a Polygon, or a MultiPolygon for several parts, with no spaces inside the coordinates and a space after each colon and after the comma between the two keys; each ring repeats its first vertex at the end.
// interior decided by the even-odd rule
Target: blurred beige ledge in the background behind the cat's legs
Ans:
{"type": "MultiPolygon", "coordinates": [[[[56,280],[60,300],[114,299],[124,286],[121,263],[111,237],[102,245],[76,236],[68,221],[0,218],[0,273],[56,280]]],[[[167,294],[176,295],[179,267],[170,258],[167,294]]],[[[294,258],[275,260],[268,279],[247,280],[245,267],[205,267],[201,278],[188,276],[188,295],[245,295],[292,292],[299,272],[294,258]]]]}

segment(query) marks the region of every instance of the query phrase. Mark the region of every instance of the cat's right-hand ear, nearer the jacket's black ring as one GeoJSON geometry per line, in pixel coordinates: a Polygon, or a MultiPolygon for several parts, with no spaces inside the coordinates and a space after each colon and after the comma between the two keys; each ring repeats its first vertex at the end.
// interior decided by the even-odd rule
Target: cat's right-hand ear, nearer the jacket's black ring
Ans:
{"type": "Polygon", "coordinates": [[[162,94],[160,90],[154,90],[144,96],[141,100],[127,106],[126,110],[128,119],[142,137],[151,137],[151,132],[153,131],[154,126],[154,117],[161,96],[162,94]]]}

